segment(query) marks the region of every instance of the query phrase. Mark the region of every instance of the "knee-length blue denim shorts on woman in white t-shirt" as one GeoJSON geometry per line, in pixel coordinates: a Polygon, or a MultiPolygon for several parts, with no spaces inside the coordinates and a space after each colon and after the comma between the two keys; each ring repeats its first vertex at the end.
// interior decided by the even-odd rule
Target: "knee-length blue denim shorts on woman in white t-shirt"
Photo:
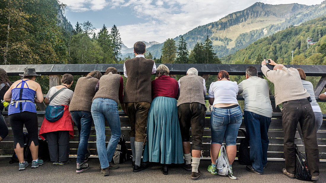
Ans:
{"type": "Polygon", "coordinates": [[[212,144],[236,145],[239,127],[242,123],[240,106],[231,109],[213,107],[211,114],[212,144]]]}

